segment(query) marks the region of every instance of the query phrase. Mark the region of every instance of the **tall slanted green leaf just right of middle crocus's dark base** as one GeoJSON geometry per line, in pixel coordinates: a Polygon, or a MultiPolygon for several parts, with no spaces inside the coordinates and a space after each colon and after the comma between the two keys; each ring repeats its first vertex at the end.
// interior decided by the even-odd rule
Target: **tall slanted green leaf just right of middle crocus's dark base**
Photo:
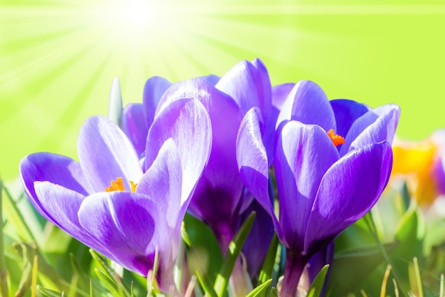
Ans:
{"type": "Polygon", "coordinates": [[[213,286],[219,297],[225,296],[225,292],[227,291],[227,283],[229,283],[233,266],[235,266],[235,261],[240,255],[242,245],[244,244],[250,229],[252,229],[254,218],[255,212],[252,212],[249,217],[247,217],[245,222],[242,223],[242,226],[237,231],[234,239],[229,244],[229,250],[227,251],[227,254],[223,260],[223,267],[221,267],[220,273],[218,273],[216,276],[215,286],[213,286]]]}

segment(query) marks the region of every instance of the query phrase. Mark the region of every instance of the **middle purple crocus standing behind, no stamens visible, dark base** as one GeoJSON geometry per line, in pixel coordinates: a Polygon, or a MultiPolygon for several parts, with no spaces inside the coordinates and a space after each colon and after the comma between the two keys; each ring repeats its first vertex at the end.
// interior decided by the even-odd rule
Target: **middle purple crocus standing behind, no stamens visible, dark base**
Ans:
{"type": "MultiPolygon", "coordinates": [[[[210,115],[213,144],[208,165],[203,170],[188,212],[210,226],[225,254],[240,225],[240,214],[252,202],[251,195],[243,194],[245,187],[237,168],[237,132],[243,113],[252,106],[264,110],[265,118],[269,117],[269,75],[261,61],[242,61],[223,75],[215,86],[203,78],[175,83],[163,94],[156,113],[176,98],[190,96],[198,98],[210,115]]],[[[270,127],[273,130],[274,125],[270,127]]],[[[152,157],[147,156],[146,159],[150,162],[152,157]]],[[[242,273],[238,263],[232,275],[236,275],[237,271],[242,273]]],[[[240,284],[239,287],[243,286],[240,284]]],[[[249,289],[238,291],[238,296],[245,296],[249,289]]]]}

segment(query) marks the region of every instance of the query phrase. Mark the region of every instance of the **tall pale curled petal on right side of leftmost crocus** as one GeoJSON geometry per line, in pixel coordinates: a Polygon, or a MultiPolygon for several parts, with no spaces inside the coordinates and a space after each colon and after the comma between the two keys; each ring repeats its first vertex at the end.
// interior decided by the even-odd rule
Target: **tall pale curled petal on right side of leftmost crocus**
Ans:
{"type": "Polygon", "coordinates": [[[183,170],[181,204],[191,196],[208,162],[212,142],[210,119],[203,105],[194,99],[176,100],[156,115],[146,142],[146,168],[156,159],[161,145],[173,138],[183,170]]]}

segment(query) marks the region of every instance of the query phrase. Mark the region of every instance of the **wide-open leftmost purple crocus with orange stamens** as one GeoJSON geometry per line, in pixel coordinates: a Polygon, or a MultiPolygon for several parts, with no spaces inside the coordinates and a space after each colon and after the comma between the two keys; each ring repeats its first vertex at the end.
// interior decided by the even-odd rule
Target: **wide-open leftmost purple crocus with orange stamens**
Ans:
{"type": "Polygon", "coordinates": [[[154,120],[148,138],[154,145],[146,152],[156,157],[143,172],[122,130],[93,116],[80,129],[79,162],[28,155],[21,179],[45,219],[124,268],[146,276],[157,249],[159,286],[174,292],[180,226],[210,153],[210,119],[197,100],[178,100],[154,120]]]}

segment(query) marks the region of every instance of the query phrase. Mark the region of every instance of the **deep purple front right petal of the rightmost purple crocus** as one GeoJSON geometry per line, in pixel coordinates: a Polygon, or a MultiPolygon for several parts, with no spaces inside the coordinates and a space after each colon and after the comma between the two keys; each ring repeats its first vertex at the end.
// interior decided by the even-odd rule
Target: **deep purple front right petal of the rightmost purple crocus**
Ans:
{"type": "Polygon", "coordinates": [[[389,142],[365,145],[338,160],[321,180],[308,220],[305,250],[318,250],[363,217],[385,189],[391,167],[389,142]]]}

